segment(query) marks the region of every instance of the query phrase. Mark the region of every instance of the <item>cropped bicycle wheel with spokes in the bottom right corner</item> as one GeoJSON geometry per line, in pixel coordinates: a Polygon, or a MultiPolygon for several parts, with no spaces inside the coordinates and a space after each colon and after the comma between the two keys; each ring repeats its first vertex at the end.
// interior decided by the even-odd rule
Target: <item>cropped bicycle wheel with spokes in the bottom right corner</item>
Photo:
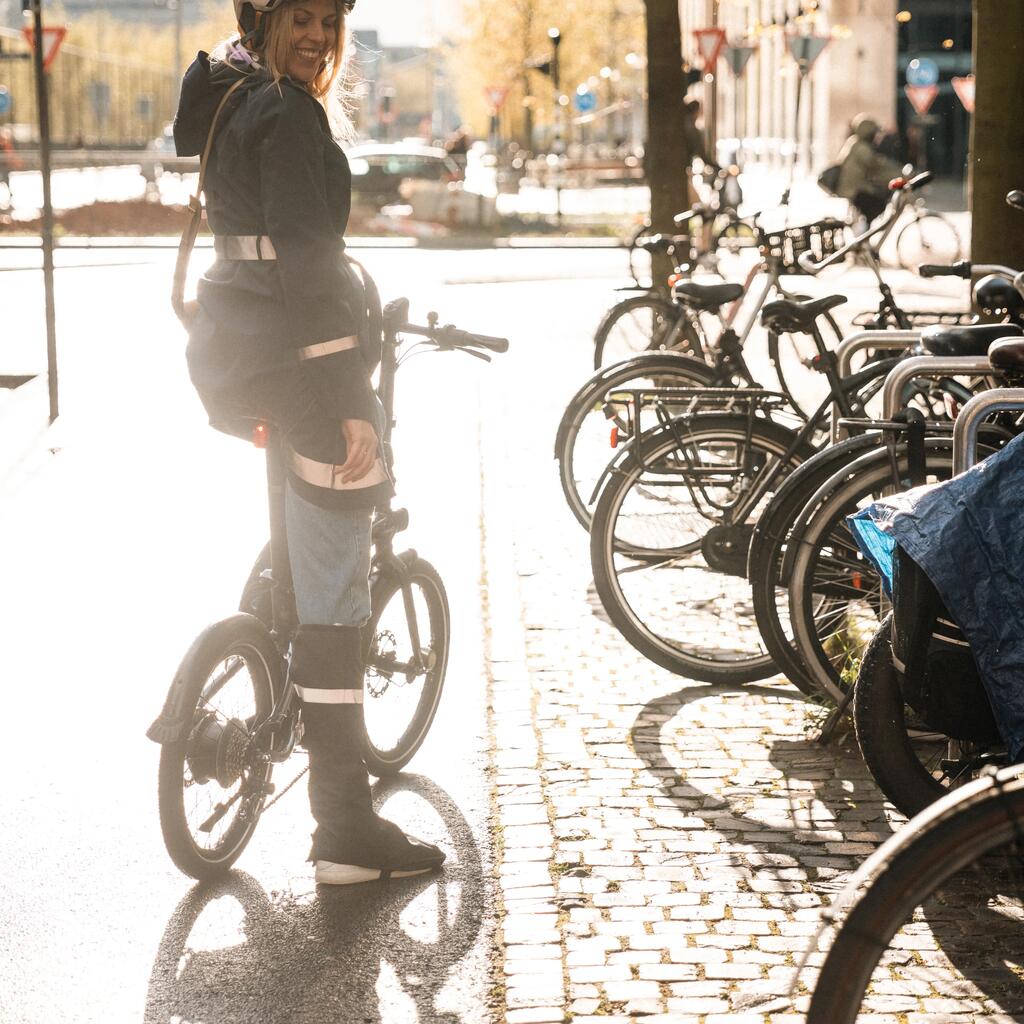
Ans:
{"type": "Polygon", "coordinates": [[[880,1011],[959,1020],[945,1006],[932,1016],[954,992],[964,1020],[981,1019],[982,1006],[986,1020],[1021,1012],[1020,770],[949,795],[878,851],[871,866],[881,866],[833,941],[807,1024],[855,1024],[880,1011]]]}

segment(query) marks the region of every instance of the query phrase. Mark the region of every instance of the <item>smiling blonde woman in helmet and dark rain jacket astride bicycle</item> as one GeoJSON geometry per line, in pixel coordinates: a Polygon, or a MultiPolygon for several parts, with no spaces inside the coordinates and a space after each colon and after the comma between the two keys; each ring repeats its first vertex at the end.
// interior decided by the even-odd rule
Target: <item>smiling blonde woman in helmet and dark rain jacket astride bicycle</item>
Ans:
{"type": "Polygon", "coordinates": [[[185,74],[179,155],[206,146],[217,260],[199,285],[188,368],[210,422],[281,432],[299,629],[290,680],[302,701],[316,881],[346,885],[436,869],[443,853],[373,810],[361,761],[373,506],[390,493],[379,457],[366,303],[344,261],[351,177],[327,103],[354,0],[234,0],[241,36],[185,74]],[[364,335],[360,345],[360,333],[364,335]]]}

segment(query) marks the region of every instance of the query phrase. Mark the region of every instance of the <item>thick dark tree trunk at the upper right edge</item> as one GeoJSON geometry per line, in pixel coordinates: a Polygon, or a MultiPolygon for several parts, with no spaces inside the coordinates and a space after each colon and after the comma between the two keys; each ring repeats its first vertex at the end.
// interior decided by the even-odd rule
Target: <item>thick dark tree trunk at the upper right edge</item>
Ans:
{"type": "Polygon", "coordinates": [[[971,259],[1021,270],[1024,213],[1008,209],[1006,195],[1024,188],[1024,0],[975,0],[974,74],[971,259]]]}

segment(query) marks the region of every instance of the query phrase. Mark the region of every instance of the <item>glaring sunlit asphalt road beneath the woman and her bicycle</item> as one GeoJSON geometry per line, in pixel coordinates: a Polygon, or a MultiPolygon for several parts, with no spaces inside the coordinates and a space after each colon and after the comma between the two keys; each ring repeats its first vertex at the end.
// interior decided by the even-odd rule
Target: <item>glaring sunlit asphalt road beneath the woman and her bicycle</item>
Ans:
{"type": "MultiPolygon", "coordinates": [[[[436,308],[508,334],[506,358],[537,374],[550,346],[570,348],[566,397],[624,268],[603,251],[362,255],[414,316],[436,308]]],[[[229,882],[203,890],[164,852],[144,731],[191,638],[236,606],[266,531],[262,466],[205,425],[169,311],[171,256],[111,262],[84,254],[57,272],[61,419],[0,478],[0,1024],[492,1019],[478,436],[501,358],[431,356],[399,377],[409,544],[447,583],[454,643],[437,723],[380,796],[450,866],[440,880],[317,894],[300,784],[229,882]]],[[[2,373],[44,366],[39,279],[0,275],[2,373]]]]}

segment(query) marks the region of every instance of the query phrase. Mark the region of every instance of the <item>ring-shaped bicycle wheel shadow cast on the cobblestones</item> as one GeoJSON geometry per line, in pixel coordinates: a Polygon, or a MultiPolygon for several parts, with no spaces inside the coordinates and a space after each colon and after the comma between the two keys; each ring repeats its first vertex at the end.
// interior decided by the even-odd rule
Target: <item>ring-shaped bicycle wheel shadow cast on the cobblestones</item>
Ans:
{"type": "Polygon", "coordinates": [[[695,684],[640,711],[637,757],[680,811],[723,839],[721,853],[689,855],[698,869],[718,860],[755,891],[831,892],[892,834],[859,753],[805,735],[805,707],[780,686],[695,684]]]}

